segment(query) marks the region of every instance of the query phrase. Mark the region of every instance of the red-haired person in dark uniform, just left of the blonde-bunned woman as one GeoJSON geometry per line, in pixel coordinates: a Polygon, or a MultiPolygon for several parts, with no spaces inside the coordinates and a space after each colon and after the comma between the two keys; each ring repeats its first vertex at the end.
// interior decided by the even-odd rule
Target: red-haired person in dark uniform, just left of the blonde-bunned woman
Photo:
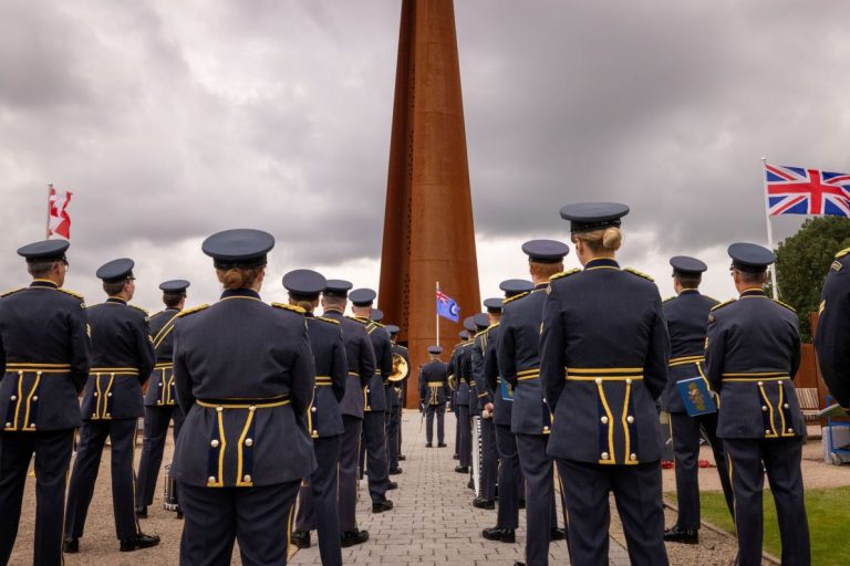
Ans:
{"type": "MultiPolygon", "coordinates": [[[[499,331],[499,369],[514,388],[510,431],[526,480],[526,564],[549,563],[549,543],[564,537],[558,528],[554,506],[552,458],[547,453],[551,409],[540,380],[540,325],[549,277],[563,271],[570,249],[556,240],[531,240],[522,244],[528,255],[532,289],[505,301],[499,331]]],[[[521,564],[521,563],[520,563],[521,564]]]]}

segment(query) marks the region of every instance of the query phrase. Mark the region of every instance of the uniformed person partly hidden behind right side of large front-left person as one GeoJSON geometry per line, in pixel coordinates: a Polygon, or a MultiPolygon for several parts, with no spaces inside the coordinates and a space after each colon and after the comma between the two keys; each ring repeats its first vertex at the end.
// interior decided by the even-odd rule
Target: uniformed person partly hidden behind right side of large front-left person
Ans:
{"type": "Polygon", "coordinates": [[[322,564],[339,566],[342,565],[342,551],[336,469],[344,431],[340,401],[345,395],[349,373],[342,326],[339,321],[313,315],[319,296],[328,287],[328,281],[320,273],[290,271],[283,275],[283,286],[289,291],[289,304],[304,310],[317,374],[307,428],[313,439],[318,467],[299,492],[292,542],[300,548],[310,547],[310,531],[315,528],[322,564]]]}

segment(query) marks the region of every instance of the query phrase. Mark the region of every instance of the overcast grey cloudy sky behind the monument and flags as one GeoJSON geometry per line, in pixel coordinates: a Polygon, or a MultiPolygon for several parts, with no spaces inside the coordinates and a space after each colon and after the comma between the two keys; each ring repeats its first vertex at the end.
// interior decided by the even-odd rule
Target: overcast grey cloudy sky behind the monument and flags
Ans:
{"type": "MultiPolygon", "coordinates": [[[[761,156],[850,171],[850,4],[455,2],[481,296],[522,241],[568,239],[560,206],[615,200],[624,264],[672,293],[693,254],[732,295],[726,247],[766,242],[761,156]]],[[[137,304],[193,281],[201,240],[270,231],[267,300],[313,268],[376,286],[401,2],[0,0],[0,286],[73,191],[66,287],[136,261],[137,304]]],[[[774,221],[777,240],[802,218],[774,221]]],[[[568,266],[578,265],[574,256],[568,266]]],[[[450,290],[446,290],[450,294],[450,290]]],[[[477,308],[460,305],[470,314],[477,308]]]]}

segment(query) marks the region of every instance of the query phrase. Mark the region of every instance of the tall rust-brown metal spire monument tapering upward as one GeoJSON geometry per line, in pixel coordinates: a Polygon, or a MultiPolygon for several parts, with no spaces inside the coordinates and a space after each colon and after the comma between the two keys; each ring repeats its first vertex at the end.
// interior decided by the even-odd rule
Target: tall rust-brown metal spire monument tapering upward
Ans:
{"type": "MultiPolygon", "coordinates": [[[[411,354],[407,407],[436,340],[435,284],[480,311],[453,0],[404,0],[398,34],[380,304],[411,354]]],[[[444,359],[460,324],[439,319],[444,359]]]]}

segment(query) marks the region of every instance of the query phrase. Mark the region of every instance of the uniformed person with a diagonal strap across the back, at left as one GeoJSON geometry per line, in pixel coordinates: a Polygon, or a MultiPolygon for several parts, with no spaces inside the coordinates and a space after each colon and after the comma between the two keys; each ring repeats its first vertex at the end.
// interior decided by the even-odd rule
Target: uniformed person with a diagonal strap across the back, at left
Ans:
{"type": "MultiPolygon", "coordinates": [[[[154,502],[156,478],[163,463],[165,437],[174,420],[174,442],[183,427],[183,411],[177,405],[174,389],[174,323],[186,304],[189,282],[182,279],[166,281],[159,285],[165,310],[151,316],[151,336],[154,339],[156,366],[145,391],[145,440],[142,444],[142,460],[138,463],[136,481],[136,516],[147,517],[147,506],[154,502]]],[[[178,516],[183,512],[178,511],[178,516]]]]}

